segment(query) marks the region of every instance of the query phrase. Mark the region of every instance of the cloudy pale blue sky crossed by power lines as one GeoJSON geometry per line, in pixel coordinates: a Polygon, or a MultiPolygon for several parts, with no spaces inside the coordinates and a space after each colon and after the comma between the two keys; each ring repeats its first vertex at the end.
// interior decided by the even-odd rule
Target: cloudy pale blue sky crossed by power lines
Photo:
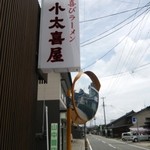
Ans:
{"type": "MultiPolygon", "coordinates": [[[[150,2],[79,0],[81,70],[101,83],[90,125],[150,106],[150,2]]],[[[71,73],[72,79],[77,75],[71,73]]]]}

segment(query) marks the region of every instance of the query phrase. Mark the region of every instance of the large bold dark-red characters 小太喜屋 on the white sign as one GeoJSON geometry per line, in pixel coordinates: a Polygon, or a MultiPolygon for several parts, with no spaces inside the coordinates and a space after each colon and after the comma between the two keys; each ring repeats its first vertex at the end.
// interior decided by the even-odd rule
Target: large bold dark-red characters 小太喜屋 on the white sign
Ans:
{"type": "Polygon", "coordinates": [[[63,55],[62,55],[62,42],[65,40],[65,38],[62,38],[62,32],[58,32],[57,29],[63,29],[65,28],[65,25],[63,25],[64,19],[58,18],[59,13],[64,11],[65,8],[62,8],[59,3],[55,3],[55,6],[52,6],[49,9],[49,12],[55,13],[55,18],[50,20],[50,26],[49,29],[55,29],[55,32],[51,32],[51,38],[49,39],[49,42],[54,45],[54,47],[51,47],[50,49],[50,55],[47,59],[47,62],[61,62],[64,61],[63,55]],[[60,47],[55,47],[55,45],[60,45],[60,47]]]}

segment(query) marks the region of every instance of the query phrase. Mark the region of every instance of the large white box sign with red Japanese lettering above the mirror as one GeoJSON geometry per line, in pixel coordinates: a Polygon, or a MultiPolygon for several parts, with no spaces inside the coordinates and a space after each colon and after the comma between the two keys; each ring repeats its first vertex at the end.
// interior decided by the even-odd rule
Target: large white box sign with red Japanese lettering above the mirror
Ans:
{"type": "Polygon", "coordinates": [[[38,68],[80,70],[78,0],[42,1],[38,68]]]}

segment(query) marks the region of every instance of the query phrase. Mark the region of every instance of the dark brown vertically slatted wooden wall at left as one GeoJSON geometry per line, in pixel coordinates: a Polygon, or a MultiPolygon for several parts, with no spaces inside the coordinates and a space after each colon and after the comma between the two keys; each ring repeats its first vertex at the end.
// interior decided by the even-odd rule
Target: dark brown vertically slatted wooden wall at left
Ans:
{"type": "Polygon", "coordinates": [[[33,150],[38,0],[0,0],[0,150],[33,150]]]}

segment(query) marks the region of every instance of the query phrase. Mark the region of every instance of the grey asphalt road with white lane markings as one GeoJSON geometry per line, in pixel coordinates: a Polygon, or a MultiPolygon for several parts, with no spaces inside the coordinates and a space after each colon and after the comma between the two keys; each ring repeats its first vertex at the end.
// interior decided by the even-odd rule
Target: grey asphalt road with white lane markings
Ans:
{"type": "Polygon", "coordinates": [[[90,150],[150,150],[132,142],[109,139],[98,135],[87,135],[90,150]]]}

